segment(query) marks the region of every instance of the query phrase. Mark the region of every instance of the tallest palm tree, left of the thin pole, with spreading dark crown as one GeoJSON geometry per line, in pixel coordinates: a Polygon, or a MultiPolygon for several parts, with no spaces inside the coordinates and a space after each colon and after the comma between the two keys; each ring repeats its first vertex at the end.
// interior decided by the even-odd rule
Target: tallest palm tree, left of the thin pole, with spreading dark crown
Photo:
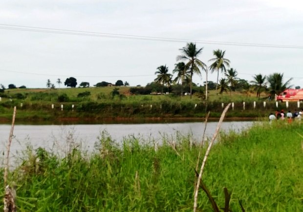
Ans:
{"type": "Polygon", "coordinates": [[[182,55],[177,56],[177,61],[179,60],[185,60],[187,63],[185,64],[186,70],[190,73],[190,95],[192,98],[192,91],[193,91],[193,75],[194,73],[201,76],[201,72],[199,67],[202,68],[202,70],[206,70],[206,64],[204,64],[202,61],[197,59],[197,56],[202,53],[202,49],[197,49],[195,46],[195,43],[189,42],[186,44],[185,47],[179,49],[182,52],[182,55]]]}

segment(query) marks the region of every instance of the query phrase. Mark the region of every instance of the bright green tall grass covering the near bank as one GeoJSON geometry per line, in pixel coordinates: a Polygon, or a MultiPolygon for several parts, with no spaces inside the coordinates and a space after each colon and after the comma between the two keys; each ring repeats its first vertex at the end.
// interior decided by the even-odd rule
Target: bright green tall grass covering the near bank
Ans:
{"type": "MultiPolygon", "coordinates": [[[[275,122],[222,134],[202,177],[219,208],[226,187],[234,212],[241,211],[238,200],[247,212],[302,212],[302,132],[300,123],[275,122]]],[[[199,146],[191,148],[189,141],[176,135],[155,151],[135,138],[118,147],[103,132],[94,153],[70,140],[61,159],[43,148],[34,150],[9,179],[17,185],[19,211],[192,211],[199,146]]],[[[202,190],[198,209],[213,211],[202,190]]]]}

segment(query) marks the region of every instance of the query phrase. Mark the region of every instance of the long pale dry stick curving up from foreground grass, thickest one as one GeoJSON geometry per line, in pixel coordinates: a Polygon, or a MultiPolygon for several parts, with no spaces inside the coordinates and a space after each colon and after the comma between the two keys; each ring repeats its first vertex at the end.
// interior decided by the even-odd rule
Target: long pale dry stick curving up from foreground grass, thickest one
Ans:
{"type": "Polygon", "coordinates": [[[204,156],[202,165],[201,165],[201,169],[200,169],[200,172],[199,172],[198,182],[197,182],[197,185],[196,185],[196,187],[195,187],[194,212],[195,212],[196,209],[197,209],[198,191],[199,191],[200,181],[201,181],[201,178],[202,178],[203,169],[204,169],[204,167],[205,167],[205,163],[206,163],[206,160],[207,160],[207,156],[208,156],[208,154],[209,154],[209,152],[210,152],[210,150],[211,150],[211,148],[212,148],[212,145],[214,144],[214,141],[215,141],[216,136],[217,136],[217,134],[218,134],[218,132],[219,132],[219,130],[220,130],[220,127],[221,127],[221,125],[222,125],[222,122],[223,122],[223,119],[224,119],[224,117],[225,117],[225,114],[226,114],[226,112],[227,112],[227,110],[228,110],[228,108],[229,108],[230,105],[231,105],[231,104],[229,103],[229,104],[224,108],[224,110],[223,110],[223,112],[222,112],[222,114],[221,114],[219,123],[218,123],[218,125],[217,125],[217,127],[216,127],[216,131],[215,131],[215,133],[214,133],[214,135],[213,135],[212,141],[209,143],[208,148],[207,148],[207,150],[206,150],[206,153],[205,153],[205,156],[204,156]]]}

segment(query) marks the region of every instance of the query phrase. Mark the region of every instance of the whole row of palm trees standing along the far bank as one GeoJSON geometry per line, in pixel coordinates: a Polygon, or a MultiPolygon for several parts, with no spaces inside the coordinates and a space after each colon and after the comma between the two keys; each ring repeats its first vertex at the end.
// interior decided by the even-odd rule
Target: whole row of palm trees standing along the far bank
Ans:
{"type": "MultiPolygon", "coordinates": [[[[230,67],[230,60],[225,58],[225,51],[220,49],[214,50],[214,58],[208,60],[211,64],[207,66],[203,63],[198,56],[202,54],[202,48],[197,48],[196,44],[189,42],[185,47],[179,49],[181,55],[176,57],[176,61],[184,61],[176,63],[173,69],[173,74],[176,74],[176,77],[173,78],[173,74],[169,73],[168,67],[165,65],[160,65],[156,68],[154,79],[155,83],[162,85],[163,87],[169,88],[172,85],[180,84],[181,85],[181,96],[183,95],[183,88],[185,85],[190,85],[189,94],[192,97],[193,94],[193,75],[197,74],[201,77],[201,70],[206,74],[205,84],[205,99],[207,100],[208,94],[208,71],[211,73],[216,72],[216,94],[222,94],[224,91],[235,91],[238,84],[241,85],[242,89],[248,92],[249,90],[257,91],[257,97],[260,97],[260,93],[265,91],[270,94],[280,94],[286,88],[291,87],[289,79],[283,83],[283,74],[282,73],[273,73],[268,76],[262,74],[256,74],[253,76],[253,81],[246,81],[239,79],[238,72],[236,69],[230,67]],[[224,74],[219,80],[219,72],[224,74]]],[[[296,86],[300,88],[300,86],[296,86]]],[[[169,89],[168,89],[169,90],[169,89]]],[[[163,91],[163,88],[162,88],[163,91]]]]}

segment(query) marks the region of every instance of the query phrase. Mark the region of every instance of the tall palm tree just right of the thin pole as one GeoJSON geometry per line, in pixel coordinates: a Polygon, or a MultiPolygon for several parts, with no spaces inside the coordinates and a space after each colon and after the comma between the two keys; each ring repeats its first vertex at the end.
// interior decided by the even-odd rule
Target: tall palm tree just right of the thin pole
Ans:
{"type": "Polygon", "coordinates": [[[221,72],[226,72],[226,67],[229,67],[230,61],[226,58],[224,58],[225,51],[222,52],[222,50],[217,49],[214,50],[214,56],[216,58],[210,59],[208,62],[214,62],[213,64],[210,65],[210,69],[212,73],[214,71],[217,71],[217,77],[216,77],[216,94],[217,94],[217,88],[218,88],[218,80],[219,80],[219,69],[221,69],[221,72]]]}

